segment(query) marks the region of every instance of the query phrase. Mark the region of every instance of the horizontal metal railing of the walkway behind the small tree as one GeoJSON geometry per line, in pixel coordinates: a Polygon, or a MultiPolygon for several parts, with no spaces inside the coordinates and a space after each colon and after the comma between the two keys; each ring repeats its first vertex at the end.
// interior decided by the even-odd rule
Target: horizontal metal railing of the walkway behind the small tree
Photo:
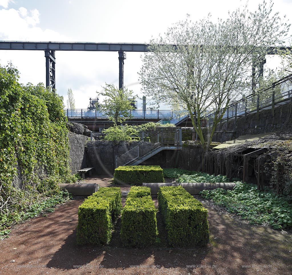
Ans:
{"type": "MultiPolygon", "coordinates": [[[[172,110],[135,109],[128,112],[132,118],[171,119],[173,117],[172,110]]],[[[97,109],[64,109],[64,113],[69,118],[107,118],[105,112],[97,109]]]]}

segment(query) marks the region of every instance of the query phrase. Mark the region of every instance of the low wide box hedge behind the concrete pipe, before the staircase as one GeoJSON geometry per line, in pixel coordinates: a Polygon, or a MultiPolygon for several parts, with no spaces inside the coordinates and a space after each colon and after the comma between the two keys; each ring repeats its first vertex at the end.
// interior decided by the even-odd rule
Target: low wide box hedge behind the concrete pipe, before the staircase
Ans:
{"type": "Polygon", "coordinates": [[[116,184],[164,182],[163,170],[157,165],[119,166],[114,170],[114,182],[116,184]]]}

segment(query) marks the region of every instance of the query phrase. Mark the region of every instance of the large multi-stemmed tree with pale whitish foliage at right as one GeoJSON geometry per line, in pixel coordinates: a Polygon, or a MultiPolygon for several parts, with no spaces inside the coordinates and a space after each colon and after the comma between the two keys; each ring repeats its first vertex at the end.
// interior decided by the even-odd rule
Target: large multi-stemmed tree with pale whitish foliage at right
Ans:
{"type": "Polygon", "coordinates": [[[227,106],[250,93],[252,64],[265,56],[268,46],[281,45],[289,26],[281,23],[273,4],[247,5],[213,23],[208,16],[192,22],[189,16],[150,42],[139,73],[145,95],[154,104],[187,110],[204,151],[208,151],[227,106]],[[215,112],[208,136],[201,119],[215,112]]]}

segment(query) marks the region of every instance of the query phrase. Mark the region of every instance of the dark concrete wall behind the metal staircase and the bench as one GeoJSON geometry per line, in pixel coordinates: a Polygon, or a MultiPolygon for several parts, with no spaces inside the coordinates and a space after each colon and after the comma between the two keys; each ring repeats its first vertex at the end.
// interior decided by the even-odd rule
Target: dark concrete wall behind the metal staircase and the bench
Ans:
{"type": "MultiPolygon", "coordinates": [[[[71,144],[70,158],[73,173],[85,167],[94,167],[95,174],[112,175],[114,173],[114,156],[126,149],[131,143],[122,141],[90,141],[85,136],[69,133],[71,144]]],[[[164,150],[152,156],[141,165],[160,165],[162,168],[181,168],[201,170],[201,147],[192,141],[183,143],[183,150],[164,150]]]]}

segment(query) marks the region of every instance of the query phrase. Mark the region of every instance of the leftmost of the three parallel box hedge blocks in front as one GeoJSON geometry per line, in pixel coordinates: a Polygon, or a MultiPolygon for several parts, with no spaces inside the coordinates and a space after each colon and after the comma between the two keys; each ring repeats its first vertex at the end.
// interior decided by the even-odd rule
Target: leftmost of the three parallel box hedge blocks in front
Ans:
{"type": "Polygon", "coordinates": [[[78,208],[77,244],[107,244],[121,213],[121,188],[101,187],[78,208]]]}

